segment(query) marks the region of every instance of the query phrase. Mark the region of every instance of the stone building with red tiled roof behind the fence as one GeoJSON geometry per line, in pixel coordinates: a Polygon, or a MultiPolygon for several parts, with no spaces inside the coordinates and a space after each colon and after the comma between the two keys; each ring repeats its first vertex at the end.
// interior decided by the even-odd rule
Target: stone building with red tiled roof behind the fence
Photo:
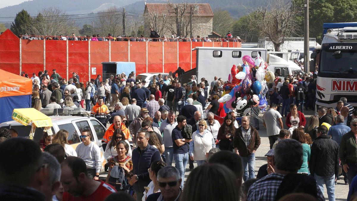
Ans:
{"type": "Polygon", "coordinates": [[[212,35],[213,11],[210,4],[149,4],[144,10],[144,29],[147,36],[150,28],[160,36],[171,38],[177,35],[176,21],[181,24],[183,37],[190,37],[190,12],[192,8],[192,36],[212,35]],[[177,9],[175,9],[177,8],[177,9]],[[177,19],[176,19],[177,18],[177,19]]]}

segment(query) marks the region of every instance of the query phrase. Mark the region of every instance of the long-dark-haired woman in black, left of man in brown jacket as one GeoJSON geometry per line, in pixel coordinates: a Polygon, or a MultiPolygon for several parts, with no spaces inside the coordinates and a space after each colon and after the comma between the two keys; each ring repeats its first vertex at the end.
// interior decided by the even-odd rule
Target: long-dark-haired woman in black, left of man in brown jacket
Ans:
{"type": "Polygon", "coordinates": [[[235,118],[230,114],[227,114],[224,118],[224,122],[218,130],[217,139],[220,141],[221,150],[233,150],[232,139],[236,133],[236,127],[234,126],[235,118]]]}

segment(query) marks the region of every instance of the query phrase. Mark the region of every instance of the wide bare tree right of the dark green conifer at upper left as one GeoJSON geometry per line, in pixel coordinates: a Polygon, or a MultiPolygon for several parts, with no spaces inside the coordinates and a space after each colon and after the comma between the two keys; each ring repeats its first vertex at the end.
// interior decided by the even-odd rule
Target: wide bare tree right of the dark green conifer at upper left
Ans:
{"type": "Polygon", "coordinates": [[[69,16],[62,10],[52,7],[39,11],[27,29],[28,33],[49,36],[75,32],[74,22],[69,16]]]}

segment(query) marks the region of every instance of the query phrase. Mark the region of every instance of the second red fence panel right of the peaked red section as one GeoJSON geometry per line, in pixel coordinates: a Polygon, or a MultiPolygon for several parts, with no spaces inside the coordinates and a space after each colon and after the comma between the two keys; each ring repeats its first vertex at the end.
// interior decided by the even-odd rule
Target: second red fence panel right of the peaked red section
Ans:
{"type": "MultiPolygon", "coordinates": [[[[24,42],[26,40],[22,40],[24,42]]],[[[67,53],[66,41],[64,40],[46,40],[46,69],[52,74],[52,69],[67,80],[67,53]]],[[[69,75],[72,77],[72,74],[69,75]]],[[[68,80],[67,80],[68,81],[68,80]]]]}

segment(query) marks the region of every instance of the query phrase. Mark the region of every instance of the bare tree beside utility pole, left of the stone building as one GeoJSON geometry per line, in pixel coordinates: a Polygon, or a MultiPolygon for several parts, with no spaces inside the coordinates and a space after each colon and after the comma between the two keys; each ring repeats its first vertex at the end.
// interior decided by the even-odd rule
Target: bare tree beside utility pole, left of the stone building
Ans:
{"type": "Polygon", "coordinates": [[[122,27],[122,12],[116,6],[111,6],[108,9],[100,11],[98,19],[95,23],[95,30],[102,36],[108,33],[112,35],[121,35],[122,27]]]}

